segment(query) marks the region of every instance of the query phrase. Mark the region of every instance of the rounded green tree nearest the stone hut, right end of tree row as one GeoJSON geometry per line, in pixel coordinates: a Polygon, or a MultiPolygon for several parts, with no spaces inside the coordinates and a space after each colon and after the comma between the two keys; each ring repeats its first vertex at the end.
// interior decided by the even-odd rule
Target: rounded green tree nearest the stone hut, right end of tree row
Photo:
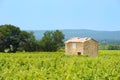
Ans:
{"type": "Polygon", "coordinates": [[[41,45],[44,51],[57,51],[57,49],[64,45],[64,34],[59,31],[46,31],[41,40],[41,45]]]}

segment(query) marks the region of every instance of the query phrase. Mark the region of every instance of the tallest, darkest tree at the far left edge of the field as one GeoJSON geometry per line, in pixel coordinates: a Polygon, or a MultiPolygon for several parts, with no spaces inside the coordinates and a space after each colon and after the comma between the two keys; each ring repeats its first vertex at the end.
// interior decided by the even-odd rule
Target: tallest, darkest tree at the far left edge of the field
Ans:
{"type": "Polygon", "coordinates": [[[9,49],[11,52],[16,52],[19,45],[20,29],[13,25],[0,26],[0,51],[9,49]]]}

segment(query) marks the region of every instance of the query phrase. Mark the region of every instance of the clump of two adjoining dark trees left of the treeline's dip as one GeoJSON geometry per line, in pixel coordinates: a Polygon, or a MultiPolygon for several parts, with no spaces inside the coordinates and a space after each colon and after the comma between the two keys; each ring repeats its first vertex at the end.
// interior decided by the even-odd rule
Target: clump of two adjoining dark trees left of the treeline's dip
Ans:
{"type": "Polygon", "coordinates": [[[33,32],[21,31],[14,25],[0,26],[0,52],[37,51],[38,46],[33,32]]]}

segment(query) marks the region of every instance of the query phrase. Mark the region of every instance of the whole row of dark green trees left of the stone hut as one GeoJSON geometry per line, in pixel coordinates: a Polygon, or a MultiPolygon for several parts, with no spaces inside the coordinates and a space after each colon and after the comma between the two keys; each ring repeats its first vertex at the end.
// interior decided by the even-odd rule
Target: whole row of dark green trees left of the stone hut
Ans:
{"type": "Polygon", "coordinates": [[[36,40],[33,34],[14,25],[0,25],[0,52],[57,51],[64,46],[64,34],[60,30],[46,31],[41,40],[36,40]]]}

